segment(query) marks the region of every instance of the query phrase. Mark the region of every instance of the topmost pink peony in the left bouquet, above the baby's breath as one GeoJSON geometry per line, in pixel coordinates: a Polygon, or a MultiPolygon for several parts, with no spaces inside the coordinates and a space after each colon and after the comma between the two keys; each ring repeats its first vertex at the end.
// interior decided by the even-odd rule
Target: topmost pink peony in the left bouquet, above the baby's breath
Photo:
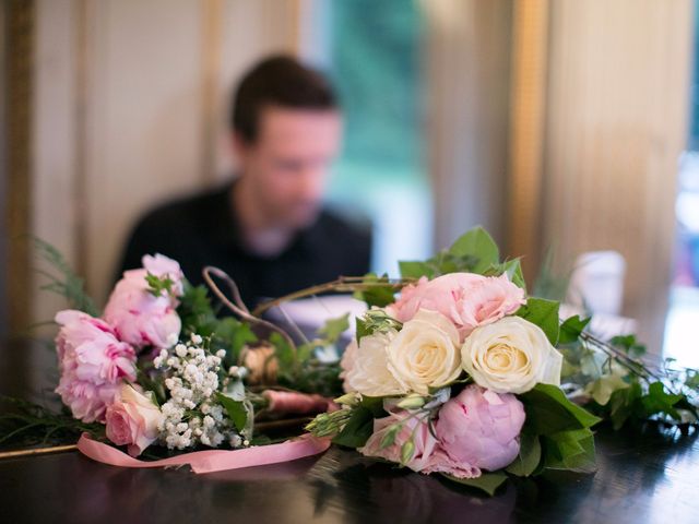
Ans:
{"type": "Polygon", "coordinates": [[[177,297],[182,294],[182,272],[167,257],[143,257],[143,269],[123,273],[105,308],[105,320],[125,342],[134,347],[169,347],[177,342],[181,321],[177,314],[177,297]],[[171,294],[154,296],[145,281],[147,274],[169,277],[171,294]]]}

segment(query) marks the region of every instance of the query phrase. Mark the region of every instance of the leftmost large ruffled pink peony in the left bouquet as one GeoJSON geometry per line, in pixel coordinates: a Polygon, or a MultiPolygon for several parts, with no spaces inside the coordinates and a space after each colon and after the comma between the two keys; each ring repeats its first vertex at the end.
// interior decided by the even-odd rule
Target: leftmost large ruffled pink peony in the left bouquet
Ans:
{"type": "Polygon", "coordinates": [[[56,337],[61,370],[56,392],[75,418],[103,420],[119,383],[135,380],[135,352],[119,342],[105,321],[82,311],[59,311],[56,322],[61,324],[56,337]]]}

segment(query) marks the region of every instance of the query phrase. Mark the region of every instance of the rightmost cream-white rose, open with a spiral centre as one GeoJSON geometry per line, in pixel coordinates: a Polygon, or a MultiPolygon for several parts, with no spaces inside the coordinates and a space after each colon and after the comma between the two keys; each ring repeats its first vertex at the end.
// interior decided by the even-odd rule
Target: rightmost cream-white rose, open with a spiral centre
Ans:
{"type": "Polygon", "coordinates": [[[524,393],[537,383],[560,384],[562,355],[541,327],[520,317],[476,327],[466,337],[461,357],[476,384],[496,393],[524,393]]]}

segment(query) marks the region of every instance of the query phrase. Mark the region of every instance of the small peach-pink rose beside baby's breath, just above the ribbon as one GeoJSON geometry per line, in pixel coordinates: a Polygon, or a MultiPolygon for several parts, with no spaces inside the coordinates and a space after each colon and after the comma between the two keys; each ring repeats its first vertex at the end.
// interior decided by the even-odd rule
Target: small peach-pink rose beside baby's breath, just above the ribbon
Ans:
{"type": "Polygon", "coordinates": [[[117,445],[128,445],[131,456],[139,456],[158,437],[163,420],[159,408],[129,384],[121,384],[118,400],[107,407],[107,438],[117,445]]]}

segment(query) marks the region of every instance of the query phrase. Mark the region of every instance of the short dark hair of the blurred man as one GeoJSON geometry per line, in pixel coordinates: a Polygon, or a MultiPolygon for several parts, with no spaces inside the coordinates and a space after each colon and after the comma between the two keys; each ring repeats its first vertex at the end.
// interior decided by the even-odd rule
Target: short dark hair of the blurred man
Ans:
{"type": "Polygon", "coordinates": [[[328,110],[337,107],[335,92],[321,73],[295,58],[279,55],[254,66],[233,95],[230,129],[248,142],[258,136],[265,107],[328,110]]]}

